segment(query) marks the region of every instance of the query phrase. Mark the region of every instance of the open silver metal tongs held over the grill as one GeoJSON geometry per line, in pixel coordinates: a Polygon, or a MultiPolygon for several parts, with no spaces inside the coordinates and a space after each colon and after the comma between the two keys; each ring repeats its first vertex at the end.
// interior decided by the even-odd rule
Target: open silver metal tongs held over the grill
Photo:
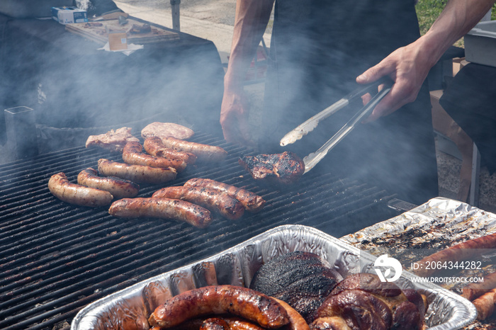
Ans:
{"type": "Polygon", "coordinates": [[[378,86],[380,86],[381,84],[384,84],[384,88],[379,91],[376,96],[373,96],[371,101],[363,106],[363,108],[361,108],[346,124],[344,124],[344,126],[341,127],[341,129],[337,131],[337,133],[334,134],[333,137],[325,142],[325,144],[320,147],[320,149],[318,149],[316,152],[312,152],[307,157],[303,158],[303,162],[305,163],[304,173],[307,173],[325,157],[330,149],[334,148],[339,142],[341,142],[344,137],[346,137],[346,135],[348,135],[349,132],[351,132],[355,128],[356,124],[360,123],[361,120],[365,119],[366,116],[372,113],[373,108],[376,108],[378,103],[391,90],[393,81],[391,81],[388,77],[384,77],[382,79],[374,81],[371,84],[359,87],[358,89],[344,96],[344,98],[341,98],[336,103],[320,111],[320,113],[317,113],[317,115],[312,116],[312,118],[306,120],[305,123],[298,125],[298,127],[296,127],[294,130],[284,135],[284,137],[281,139],[281,142],[279,143],[282,147],[284,147],[288,144],[292,144],[300,140],[303,136],[307,135],[309,132],[312,132],[312,130],[314,130],[317,125],[319,125],[320,120],[329,117],[329,115],[332,115],[333,113],[337,113],[338,110],[341,110],[342,108],[348,106],[354,98],[358,98],[365,95],[366,93],[370,93],[371,91],[373,91],[373,89],[377,89],[378,86]]]}

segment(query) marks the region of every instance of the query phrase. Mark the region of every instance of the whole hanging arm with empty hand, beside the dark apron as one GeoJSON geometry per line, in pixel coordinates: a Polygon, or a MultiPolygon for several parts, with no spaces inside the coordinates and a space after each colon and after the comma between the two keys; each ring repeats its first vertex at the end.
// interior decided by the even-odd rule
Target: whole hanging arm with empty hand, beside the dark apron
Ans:
{"type": "Polygon", "coordinates": [[[249,142],[248,106],[243,82],[264,35],[274,0],[237,0],[229,64],[224,77],[220,124],[225,140],[249,142]]]}

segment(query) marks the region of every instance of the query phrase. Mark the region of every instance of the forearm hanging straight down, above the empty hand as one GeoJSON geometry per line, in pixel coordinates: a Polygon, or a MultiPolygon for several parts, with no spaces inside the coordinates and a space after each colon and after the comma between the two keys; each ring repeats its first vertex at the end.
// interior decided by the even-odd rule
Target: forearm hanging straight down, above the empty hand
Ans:
{"type": "Polygon", "coordinates": [[[274,0],[237,0],[225,89],[236,89],[242,85],[269,22],[273,4],[274,0]]]}

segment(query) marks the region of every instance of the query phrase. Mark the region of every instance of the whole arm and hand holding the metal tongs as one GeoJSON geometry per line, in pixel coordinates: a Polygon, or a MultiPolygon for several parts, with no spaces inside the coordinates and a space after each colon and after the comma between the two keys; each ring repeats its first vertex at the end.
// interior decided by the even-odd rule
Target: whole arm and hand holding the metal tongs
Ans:
{"type": "Polygon", "coordinates": [[[494,0],[449,0],[429,31],[398,48],[375,67],[356,78],[359,84],[390,76],[395,84],[367,121],[393,113],[415,101],[429,70],[456,40],[466,35],[490,10],[494,0]]]}

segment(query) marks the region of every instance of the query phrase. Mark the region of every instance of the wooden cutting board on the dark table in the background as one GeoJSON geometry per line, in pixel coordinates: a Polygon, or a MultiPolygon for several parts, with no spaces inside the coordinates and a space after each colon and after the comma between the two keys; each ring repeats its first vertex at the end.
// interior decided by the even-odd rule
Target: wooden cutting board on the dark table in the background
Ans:
{"type": "Polygon", "coordinates": [[[128,18],[128,23],[120,25],[119,20],[96,21],[88,23],[71,23],[65,25],[70,33],[81,35],[86,39],[105,45],[108,42],[108,32],[127,32],[128,44],[143,45],[152,42],[179,40],[179,34],[151,26],[151,31],[146,33],[131,33],[133,25],[142,27],[145,23],[128,18]],[[107,32],[108,31],[108,32],[107,32]]]}

